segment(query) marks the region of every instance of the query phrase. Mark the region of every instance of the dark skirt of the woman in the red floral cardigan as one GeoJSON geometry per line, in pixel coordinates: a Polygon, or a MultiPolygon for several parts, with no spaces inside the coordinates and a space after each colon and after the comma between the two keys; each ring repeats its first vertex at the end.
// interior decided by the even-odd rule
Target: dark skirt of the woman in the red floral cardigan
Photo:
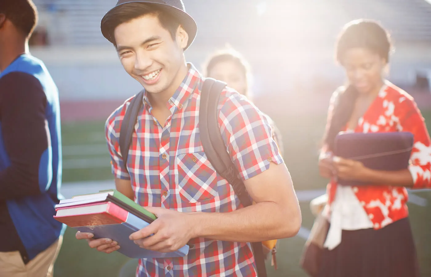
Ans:
{"type": "Polygon", "coordinates": [[[343,230],[340,245],[323,251],[318,276],[419,277],[409,218],[379,230],[343,230]]]}

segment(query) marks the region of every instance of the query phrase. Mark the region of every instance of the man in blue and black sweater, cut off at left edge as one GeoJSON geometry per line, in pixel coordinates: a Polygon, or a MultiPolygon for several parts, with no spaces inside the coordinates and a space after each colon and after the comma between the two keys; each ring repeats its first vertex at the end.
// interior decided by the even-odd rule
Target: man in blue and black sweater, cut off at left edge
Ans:
{"type": "Polygon", "coordinates": [[[52,276],[63,225],[58,90],[28,52],[31,0],[0,1],[0,276],[52,276]]]}

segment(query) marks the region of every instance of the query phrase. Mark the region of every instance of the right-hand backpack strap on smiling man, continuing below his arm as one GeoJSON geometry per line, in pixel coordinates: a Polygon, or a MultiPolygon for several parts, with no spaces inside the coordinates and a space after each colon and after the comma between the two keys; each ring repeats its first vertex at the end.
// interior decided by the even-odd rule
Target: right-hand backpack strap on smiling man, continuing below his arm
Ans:
{"type": "MultiPolygon", "coordinates": [[[[226,87],[221,81],[207,78],[200,93],[199,133],[203,151],[215,171],[225,178],[234,189],[241,204],[246,207],[252,204],[244,182],[232,162],[226,149],[219,127],[219,98],[226,87]]],[[[259,277],[266,277],[265,256],[261,242],[252,243],[256,271],[259,277]]]]}

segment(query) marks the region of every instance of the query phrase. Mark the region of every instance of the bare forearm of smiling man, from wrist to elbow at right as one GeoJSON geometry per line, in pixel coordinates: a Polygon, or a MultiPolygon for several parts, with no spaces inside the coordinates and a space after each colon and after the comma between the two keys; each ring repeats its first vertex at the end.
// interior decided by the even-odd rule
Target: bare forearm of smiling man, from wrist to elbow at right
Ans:
{"type": "Polygon", "coordinates": [[[293,237],[301,226],[299,205],[260,202],[227,213],[190,213],[197,237],[256,242],[293,237]]]}

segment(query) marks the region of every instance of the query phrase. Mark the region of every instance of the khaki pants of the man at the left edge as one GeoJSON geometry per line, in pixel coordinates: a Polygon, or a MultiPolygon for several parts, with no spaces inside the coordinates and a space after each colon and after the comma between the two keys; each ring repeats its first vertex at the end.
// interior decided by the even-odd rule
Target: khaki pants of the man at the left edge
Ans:
{"type": "Polygon", "coordinates": [[[63,236],[45,251],[24,264],[19,251],[0,252],[1,277],[53,277],[54,262],[60,252],[63,236]]]}

